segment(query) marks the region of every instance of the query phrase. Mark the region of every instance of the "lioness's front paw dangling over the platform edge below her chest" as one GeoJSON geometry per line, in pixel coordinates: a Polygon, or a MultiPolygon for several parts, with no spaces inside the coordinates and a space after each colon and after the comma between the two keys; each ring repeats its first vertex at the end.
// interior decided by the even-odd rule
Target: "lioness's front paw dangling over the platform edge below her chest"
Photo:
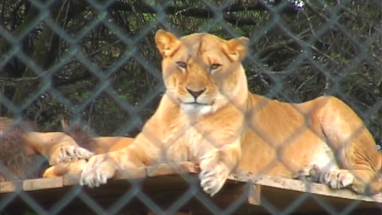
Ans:
{"type": "Polygon", "coordinates": [[[217,151],[202,156],[199,174],[200,185],[204,192],[215,195],[227,180],[230,170],[222,161],[219,161],[217,151]]]}

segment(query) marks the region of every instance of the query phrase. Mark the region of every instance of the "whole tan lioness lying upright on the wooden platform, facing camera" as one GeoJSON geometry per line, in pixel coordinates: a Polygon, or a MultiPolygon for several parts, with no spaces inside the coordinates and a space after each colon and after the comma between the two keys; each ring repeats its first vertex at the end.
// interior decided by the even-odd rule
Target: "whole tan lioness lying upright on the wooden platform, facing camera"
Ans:
{"type": "Polygon", "coordinates": [[[334,189],[381,191],[381,153],[348,105],[332,96],[291,104],[249,92],[246,37],[159,30],[155,42],[167,89],[158,109],[131,145],[93,156],[81,185],[104,184],[117,170],[192,161],[210,195],[235,168],[291,178],[316,167],[334,189]]]}

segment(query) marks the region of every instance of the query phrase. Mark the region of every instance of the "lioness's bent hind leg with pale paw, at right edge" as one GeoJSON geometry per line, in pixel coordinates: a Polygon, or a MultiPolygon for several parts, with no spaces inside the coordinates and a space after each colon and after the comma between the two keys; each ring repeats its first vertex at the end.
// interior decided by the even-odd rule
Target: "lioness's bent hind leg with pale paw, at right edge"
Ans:
{"type": "Polygon", "coordinates": [[[333,188],[350,187],[358,193],[380,192],[381,153],[362,120],[345,103],[327,98],[322,129],[342,169],[326,171],[321,180],[333,188]],[[370,186],[370,187],[369,187],[370,186]]]}

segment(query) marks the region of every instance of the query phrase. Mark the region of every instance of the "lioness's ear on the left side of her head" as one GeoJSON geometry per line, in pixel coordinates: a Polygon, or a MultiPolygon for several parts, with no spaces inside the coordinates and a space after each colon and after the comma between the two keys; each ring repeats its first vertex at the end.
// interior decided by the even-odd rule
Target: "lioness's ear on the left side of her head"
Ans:
{"type": "Polygon", "coordinates": [[[155,43],[163,58],[172,56],[180,48],[179,39],[174,34],[163,30],[155,33],[155,43]]]}

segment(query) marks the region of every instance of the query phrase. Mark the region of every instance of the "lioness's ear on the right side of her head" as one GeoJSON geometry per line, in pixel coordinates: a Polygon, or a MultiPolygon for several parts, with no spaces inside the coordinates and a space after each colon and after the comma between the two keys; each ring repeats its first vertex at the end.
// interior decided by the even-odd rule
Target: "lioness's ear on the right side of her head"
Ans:
{"type": "Polygon", "coordinates": [[[245,57],[248,49],[248,38],[239,37],[227,41],[224,52],[232,61],[241,61],[245,57]]]}

